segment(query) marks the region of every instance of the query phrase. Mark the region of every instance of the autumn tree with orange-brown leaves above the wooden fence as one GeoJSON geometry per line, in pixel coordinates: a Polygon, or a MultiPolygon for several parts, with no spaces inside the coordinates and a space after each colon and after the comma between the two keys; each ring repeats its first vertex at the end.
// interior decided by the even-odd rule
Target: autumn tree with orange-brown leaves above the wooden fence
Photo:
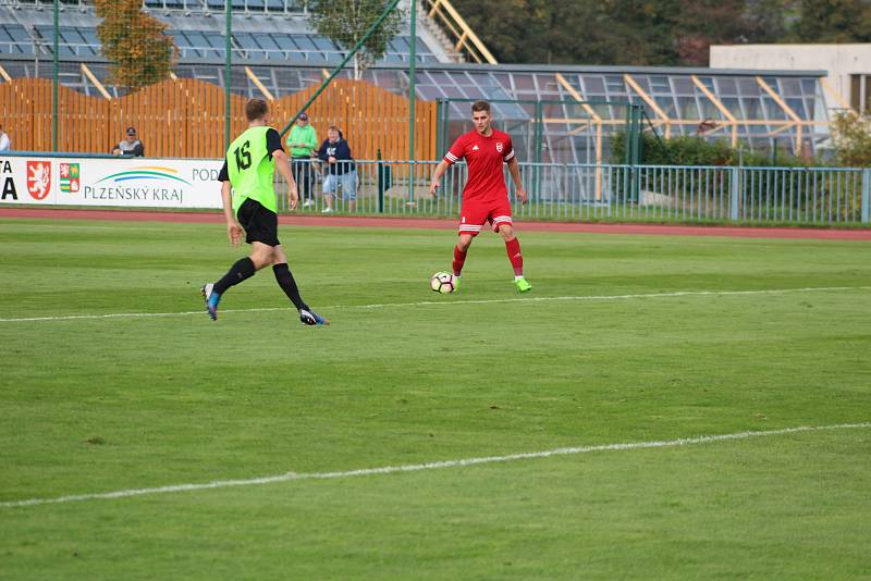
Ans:
{"type": "Polygon", "coordinates": [[[110,81],[135,90],[167,78],[176,55],[167,25],[142,10],[140,0],[96,0],[102,52],[111,61],[110,81]]]}

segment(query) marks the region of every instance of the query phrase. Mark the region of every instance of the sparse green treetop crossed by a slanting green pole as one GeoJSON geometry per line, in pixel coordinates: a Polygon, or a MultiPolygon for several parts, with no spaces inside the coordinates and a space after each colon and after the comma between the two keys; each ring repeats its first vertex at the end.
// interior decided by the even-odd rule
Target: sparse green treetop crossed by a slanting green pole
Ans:
{"type": "MultiPolygon", "coordinates": [[[[308,12],[311,25],[318,33],[349,51],[389,3],[384,0],[310,0],[308,12]]],[[[359,79],[363,71],[387,53],[388,44],[400,32],[404,12],[394,9],[366,39],[354,55],[354,78],[359,79]]]]}

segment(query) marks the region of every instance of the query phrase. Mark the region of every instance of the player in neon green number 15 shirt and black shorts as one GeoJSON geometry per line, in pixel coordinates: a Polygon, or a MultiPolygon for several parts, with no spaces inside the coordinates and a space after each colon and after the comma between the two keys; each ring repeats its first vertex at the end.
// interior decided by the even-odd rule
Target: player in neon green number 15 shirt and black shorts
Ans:
{"type": "Polygon", "coordinates": [[[238,246],[244,228],[252,255],[236,261],[217,283],[203,285],[206,310],[213,321],[217,320],[218,304],[228,288],[254,276],[265,267],[272,267],[279,286],[299,311],[299,321],[307,325],[330,324],[299,296],[287,267],[287,256],[279,242],[278,202],[272,186],[275,169],[287,182],[291,209],[296,209],[299,201],[287,156],[281,147],[281,136],[269,126],[269,108],[262,99],[249,100],[245,106],[245,116],[248,128],[230,144],[218,181],[221,182],[230,243],[238,246]]]}

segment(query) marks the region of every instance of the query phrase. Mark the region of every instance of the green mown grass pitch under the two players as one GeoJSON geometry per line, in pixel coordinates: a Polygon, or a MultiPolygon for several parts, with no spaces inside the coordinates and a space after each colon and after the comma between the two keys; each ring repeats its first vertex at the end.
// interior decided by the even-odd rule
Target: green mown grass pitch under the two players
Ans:
{"type": "Polygon", "coordinates": [[[0,220],[1,579],[871,577],[868,427],[16,506],[871,421],[869,243],[280,234],[331,326],[209,321],[220,224],[0,220]]]}

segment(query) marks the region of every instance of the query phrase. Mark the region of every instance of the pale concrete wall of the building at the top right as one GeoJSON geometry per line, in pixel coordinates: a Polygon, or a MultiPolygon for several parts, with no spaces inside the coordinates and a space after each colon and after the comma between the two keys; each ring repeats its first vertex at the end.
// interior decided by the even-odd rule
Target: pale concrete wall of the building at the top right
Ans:
{"type": "Polygon", "coordinates": [[[841,100],[825,92],[826,107],[850,102],[850,75],[871,75],[869,45],[734,45],[711,47],[712,69],[780,69],[829,71],[829,83],[841,100]]]}

